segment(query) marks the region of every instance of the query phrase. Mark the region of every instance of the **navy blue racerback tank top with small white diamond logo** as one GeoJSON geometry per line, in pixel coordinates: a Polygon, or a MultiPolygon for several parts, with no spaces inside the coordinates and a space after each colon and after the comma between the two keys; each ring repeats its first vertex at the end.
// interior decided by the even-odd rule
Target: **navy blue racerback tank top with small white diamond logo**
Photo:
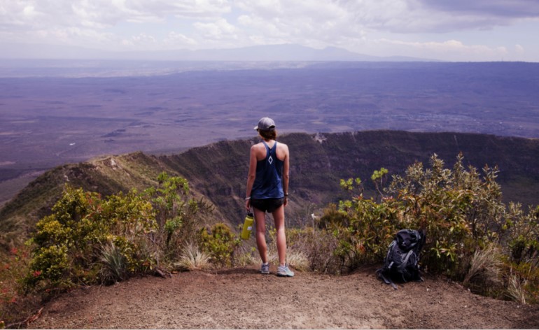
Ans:
{"type": "Polygon", "coordinates": [[[277,142],[269,149],[267,143],[266,158],[256,162],[256,176],[251,191],[253,199],[279,199],[284,197],[283,166],[284,162],[277,158],[277,142]]]}

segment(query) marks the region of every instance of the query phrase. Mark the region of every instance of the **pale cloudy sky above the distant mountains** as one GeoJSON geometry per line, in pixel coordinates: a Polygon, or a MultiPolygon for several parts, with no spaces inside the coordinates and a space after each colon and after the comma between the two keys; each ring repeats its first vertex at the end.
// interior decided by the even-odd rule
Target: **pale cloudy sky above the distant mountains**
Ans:
{"type": "Polygon", "coordinates": [[[539,0],[0,0],[3,43],[108,51],[293,43],[539,62],[539,0]]]}

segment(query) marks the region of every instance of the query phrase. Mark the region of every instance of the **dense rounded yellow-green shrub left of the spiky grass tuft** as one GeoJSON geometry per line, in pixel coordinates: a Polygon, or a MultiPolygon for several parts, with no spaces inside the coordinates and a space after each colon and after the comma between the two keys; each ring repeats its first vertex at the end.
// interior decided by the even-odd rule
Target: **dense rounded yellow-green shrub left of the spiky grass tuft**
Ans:
{"type": "Polygon", "coordinates": [[[106,245],[114,246],[113,251],[125,260],[125,274],[120,278],[127,278],[127,272],[144,270],[141,241],[153,230],[152,206],[136,191],[101,199],[66,185],[52,214],[36,224],[31,238],[34,256],[25,282],[41,289],[109,282],[110,275],[99,277],[105,274],[99,265],[104,262],[102,247],[106,245]]]}

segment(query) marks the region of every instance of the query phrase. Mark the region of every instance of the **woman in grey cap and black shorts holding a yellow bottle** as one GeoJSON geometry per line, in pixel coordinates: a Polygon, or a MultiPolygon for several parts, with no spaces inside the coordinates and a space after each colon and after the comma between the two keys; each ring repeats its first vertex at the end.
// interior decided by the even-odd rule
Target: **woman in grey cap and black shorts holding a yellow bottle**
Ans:
{"type": "Polygon", "coordinates": [[[262,138],[251,147],[245,208],[253,213],[256,222],[256,245],[262,259],[260,273],[269,274],[266,245],[266,212],[272,213],[277,231],[277,276],[292,277],[294,273],[286,265],[286,234],[284,231],[284,207],[288,203],[288,169],[290,168],[288,146],[275,141],[275,122],[263,117],[255,127],[262,138]]]}

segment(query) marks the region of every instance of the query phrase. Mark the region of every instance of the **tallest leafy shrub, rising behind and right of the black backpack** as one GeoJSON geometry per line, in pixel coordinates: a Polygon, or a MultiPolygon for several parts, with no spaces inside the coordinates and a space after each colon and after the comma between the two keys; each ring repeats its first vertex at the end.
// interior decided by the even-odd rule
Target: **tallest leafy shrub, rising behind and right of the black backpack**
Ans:
{"type": "Polygon", "coordinates": [[[422,260],[430,271],[463,280],[472,254],[496,241],[505,210],[498,169],[485,166],[483,173],[472,166],[466,171],[462,155],[452,171],[433,155],[430,168],[416,163],[393,177],[388,192],[402,202],[416,228],[426,229],[422,260]]]}

